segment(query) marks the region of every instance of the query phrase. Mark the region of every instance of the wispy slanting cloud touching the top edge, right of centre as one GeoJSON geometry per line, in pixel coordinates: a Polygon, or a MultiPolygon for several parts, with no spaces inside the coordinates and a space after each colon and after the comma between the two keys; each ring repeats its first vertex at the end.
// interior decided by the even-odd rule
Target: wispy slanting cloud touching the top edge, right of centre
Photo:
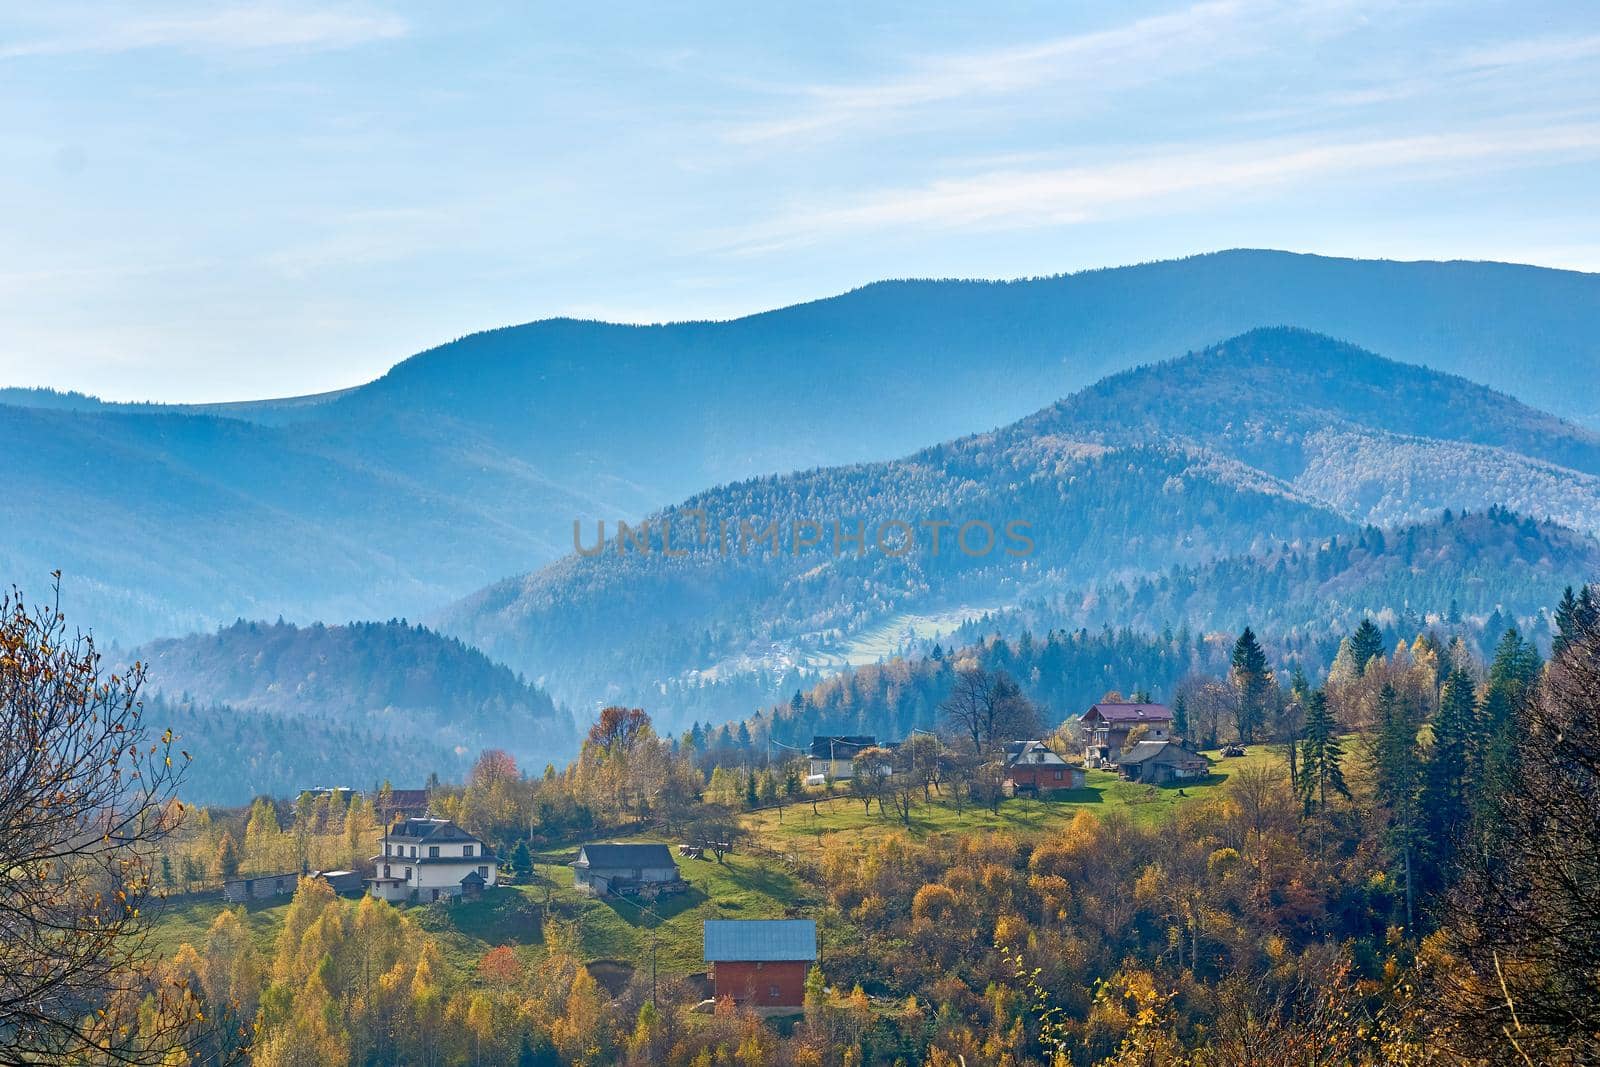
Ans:
{"type": "Polygon", "coordinates": [[[1122,26],[965,54],[923,58],[899,77],[794,90],[790,114],[738,125],[746,144],[840,133],[886,122],[910,109],[1074,86],[1094,94],[1173,78],[1269,48],[1286,32],[1342,32],[1360,0],[1283,5],[1270,0],[1203,0],[1122,26]],[[1342,19],[1330,18],[1339,13],[1342,19]]]}

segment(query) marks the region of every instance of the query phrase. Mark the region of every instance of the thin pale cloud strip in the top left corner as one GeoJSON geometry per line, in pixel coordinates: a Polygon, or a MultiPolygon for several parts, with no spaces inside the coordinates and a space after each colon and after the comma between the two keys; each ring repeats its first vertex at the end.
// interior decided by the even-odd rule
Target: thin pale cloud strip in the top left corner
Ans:
{"type": "Polygon", "coordinates": [[[189,53],[272,48],[352,48],[405,37],[403,18],[365,8],[232,3],[206,8],[64,5],[46,19],[5,30],[0,58],[125,53],[170,48],[189,53]]]}

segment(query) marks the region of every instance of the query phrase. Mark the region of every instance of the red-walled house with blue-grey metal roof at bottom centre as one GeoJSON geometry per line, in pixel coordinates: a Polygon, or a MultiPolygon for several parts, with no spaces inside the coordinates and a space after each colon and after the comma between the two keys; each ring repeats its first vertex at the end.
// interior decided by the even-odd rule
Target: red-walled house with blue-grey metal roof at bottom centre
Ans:
{"type": "Polygon", "coordinates": [[[706,920],[706,963],[714,997],[750,1008],[802,1008],[805,976],[816,963],[810,918],[706,920]]]}

